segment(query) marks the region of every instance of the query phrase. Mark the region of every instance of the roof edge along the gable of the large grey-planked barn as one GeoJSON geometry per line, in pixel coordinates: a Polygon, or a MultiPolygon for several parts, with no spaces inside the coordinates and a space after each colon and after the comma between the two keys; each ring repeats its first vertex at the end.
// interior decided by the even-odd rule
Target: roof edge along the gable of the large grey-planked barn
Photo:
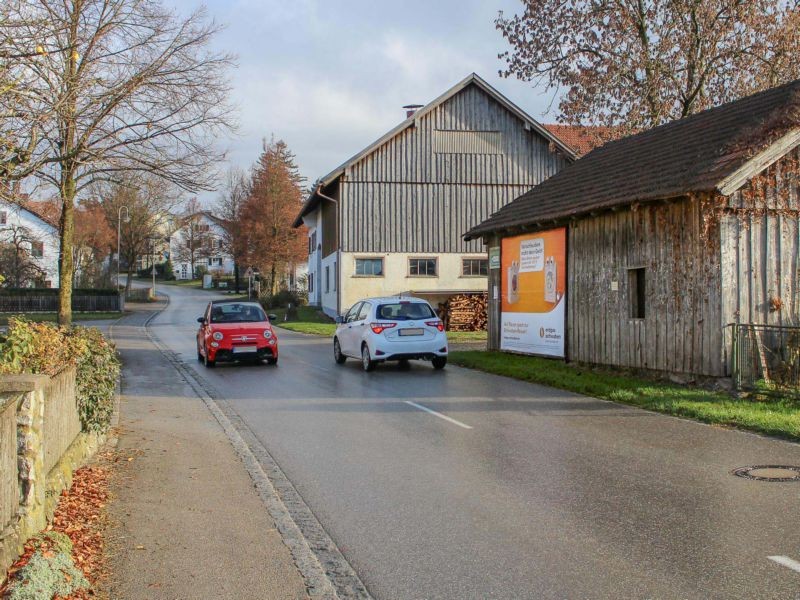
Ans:
{"type": "Polygon", "coordinates": [[[484,81],[480,76],[476,73],[471,73],[461,81],[459,81],[456,85],[451,87],[447,90],[444,94],[436,98],[435,100],[429,102],[419,110],[417,110],[413,115],[408,117],[405,121],[401,122],[399,125],[388,131],[386,134],[375,140],[369,146],[358,152],[357,154],[351,156],[341,165],[336,167],[333,171],[325,175],[324,177],[320,178],[314,189],[309,194],[308,199],[303,204],[303,207],[300,210],[300,213],[297,215],[297,218],[294,220],[293,227],[299,227],[303,222],[303,217],[310,212],[312,212],[317,205],[319,204],[321,198],[317,195],[317,192],[333,183],[336,179],[338,179],[345,170],[360,161],[361,159],[369,156],[373,152],[375,152],[378,148],[383,146],[389,140],[394,138],[395,136],[399,135],[409,127],[415,125],[417,121],[424,117],[426,114],[430,113],[438,106],[447,102],[450,98],[464,90],[470,85],[475,85],[481,90],[483,90],[486,94],[488,94],[493,100],[497,101],[501,106],[503,106],[506,110],[510,113],[516,115],[524,124],[527,129],[531,129],[536,131],[539,135],[543,138],[548,140],[553,146],[555,146],[558,150],[560,150],[564,155],[568,158],[574,160],[577,158],[577,154],[575,150],[569,146],[568,144],[564,143],[556,134],[549,131],[545,126],[541,123],[536,121],[533,117],[528,115],[524,110],[519,108],[516,104],[511,102],[508,98],[506,98],[503,94],[501,94],[498,90],[493,88],[489,85],[486,81],[484,81]]]}

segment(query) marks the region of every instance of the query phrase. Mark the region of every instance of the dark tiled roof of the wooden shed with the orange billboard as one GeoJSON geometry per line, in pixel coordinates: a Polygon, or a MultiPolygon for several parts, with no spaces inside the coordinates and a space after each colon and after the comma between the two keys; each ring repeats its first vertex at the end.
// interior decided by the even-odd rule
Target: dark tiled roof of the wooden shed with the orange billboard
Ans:
{"type": "Polygon", "coordinates": [[[798,144],[800,80],[609,142],[464,237],[694,192],[727,195],[798,144]]]}

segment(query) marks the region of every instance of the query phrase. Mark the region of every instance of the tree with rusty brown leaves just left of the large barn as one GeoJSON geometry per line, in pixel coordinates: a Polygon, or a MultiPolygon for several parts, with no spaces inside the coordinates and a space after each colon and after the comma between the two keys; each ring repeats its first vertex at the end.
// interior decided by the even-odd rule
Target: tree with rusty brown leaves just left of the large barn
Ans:
{"type": "Polygon", "coordinates": [[[248,267],[261,271],[270,294],[306,255],[305,233],[292,227],[303,199],[302,183],[286,143],[265,143],[239,214],[237,254],[248,267]]]}

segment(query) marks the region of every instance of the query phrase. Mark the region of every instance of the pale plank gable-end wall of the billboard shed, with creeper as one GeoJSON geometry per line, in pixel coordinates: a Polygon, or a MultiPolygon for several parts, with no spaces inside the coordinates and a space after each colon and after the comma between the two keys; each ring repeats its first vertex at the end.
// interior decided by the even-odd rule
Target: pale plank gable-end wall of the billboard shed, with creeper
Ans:
{"type": "Polygon", "coordinates": [[[727,199],[721,224],[724,323],[800,325],[798,165],[796,148],[727,199]]]}

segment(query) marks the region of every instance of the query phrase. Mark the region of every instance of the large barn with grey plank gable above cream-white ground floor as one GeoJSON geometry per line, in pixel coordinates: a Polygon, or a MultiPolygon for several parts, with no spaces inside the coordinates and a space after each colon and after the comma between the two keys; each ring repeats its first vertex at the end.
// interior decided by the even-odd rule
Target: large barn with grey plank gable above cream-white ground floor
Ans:
{"type": "Polygon", "coordinates": [[[474,73],[405,108],[317,182],[295,219],[308,228],[309,303],[328,315],[370,296],[486,292],[495,267],[463,234],[576,158],[474,73]]]}

